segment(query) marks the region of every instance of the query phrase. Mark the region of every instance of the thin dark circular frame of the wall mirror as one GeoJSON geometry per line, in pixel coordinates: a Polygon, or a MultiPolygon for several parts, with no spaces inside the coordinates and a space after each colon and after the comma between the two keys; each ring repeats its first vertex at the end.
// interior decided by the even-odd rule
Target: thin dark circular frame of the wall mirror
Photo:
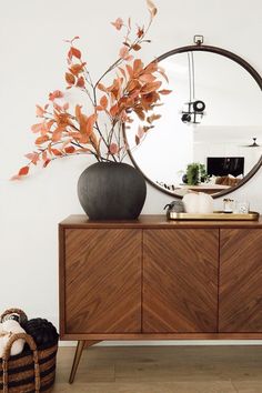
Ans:
{"type": "MultiPolygon", "coordinates": [[[[260,90],[262,91],[262,77],[259,74],[259,72],[250,63],[248,63],[248,61],[242,59],[240,56],[238,56],[238,54],[235,54],[235,53],[233,53],[231,51],[228,51],[225,49],[219,48],[219,47],[205,46],[205,44],[201,44],[201,43],[198,42],[194,46],[187,46],[187,47],[181,47],[181,48],[173,49],[173,50],[171,50],[169,52],[165,52],[164,54],[160,56],[159,58],[157,58],[153,61],[160,62],[161,60],[164,60],[164,59],[169,58],[170,56],[178,54],[178,53],[183,53],[183,52],[190,52],[190,51],[212,52],[212,53],[221,54],[221,56],[223,56],[223,57],[225,57],[228,59],[231,59],[232,61],[234,61],[238,64],[242,66],[251,74],[251,77],[255,80],[255,82],[258,83],[260,90]]],[[[127,140],[124,130],[123,130],[123,133],[124,133],[124,139],[127,140]]],[[[179,199],[183,198],[181,195],[175,194],[175,192],[172,192],[172,191],[170,191],[168,189],[164,189],[163,187],[159,185],[158,183],[154,183],[139,168],[139,165],[135,162],[135,160],[134,160],[134,158],[132,155],[132,152],[130,150],[128,150],[128,154],[129,154],[130,160],[132,161],[133,165],[142,173],[144,179],[151,185],[153,185],[155,189],[164,192],[165,194],[172,195],[173,198],[179,198],[179,199]]],[[[259,171],[261,165],[262,165],[262,155],[259,159],[259,161],[256,162],[256,164],[252,168],[252,170],[243,178],[243,180],[240,181],[240,183],[238,185],[234,185],[234,187],[231,187],[230,189],[216,192],[216,193],[212,194],[212,198],[220,198],[220,196],[226,195],[226,194],[235,191],[236,189],[239,189],[240,187],[245,184],[259,171]]]]}

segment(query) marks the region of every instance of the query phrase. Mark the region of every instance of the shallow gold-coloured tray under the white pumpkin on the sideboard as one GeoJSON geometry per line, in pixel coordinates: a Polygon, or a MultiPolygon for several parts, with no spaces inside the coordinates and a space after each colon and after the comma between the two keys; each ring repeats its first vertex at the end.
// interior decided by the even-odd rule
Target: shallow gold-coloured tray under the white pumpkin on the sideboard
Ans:
{"type": "Polygon", "coordinates": [[[169,213],[169,220],[233,220],[233,221],[258,221],[260,213],[249,212],[244,214],[240,213],[224,213],[223,211],[214,211],[209,214],[200,213],[169,213]]]}

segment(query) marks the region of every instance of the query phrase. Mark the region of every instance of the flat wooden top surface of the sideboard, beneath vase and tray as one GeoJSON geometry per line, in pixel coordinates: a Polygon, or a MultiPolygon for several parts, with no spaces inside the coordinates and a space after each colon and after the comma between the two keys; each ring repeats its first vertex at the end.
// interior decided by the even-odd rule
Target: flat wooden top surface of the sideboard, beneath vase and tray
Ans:
{"type": "Polygon", "coordinates": [[[262,228],[262,216],[259,221],[174,221],[167,220],[164,214],[142,214],[138,220],[129,221],[92,221],[85,214],[72,214],[60,222],[61,228],[262,228]]]}

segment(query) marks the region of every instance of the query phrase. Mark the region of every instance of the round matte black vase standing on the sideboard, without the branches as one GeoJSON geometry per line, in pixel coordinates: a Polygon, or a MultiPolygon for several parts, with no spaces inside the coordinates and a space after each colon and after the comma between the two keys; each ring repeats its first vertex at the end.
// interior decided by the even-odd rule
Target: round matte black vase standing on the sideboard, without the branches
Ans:
{"type": "Polygon", "coordinates": [[[90,220],[134,220],[145,195],[142,174],[122,162],[97,162],[78,181],[79,201],[90,220]]]}

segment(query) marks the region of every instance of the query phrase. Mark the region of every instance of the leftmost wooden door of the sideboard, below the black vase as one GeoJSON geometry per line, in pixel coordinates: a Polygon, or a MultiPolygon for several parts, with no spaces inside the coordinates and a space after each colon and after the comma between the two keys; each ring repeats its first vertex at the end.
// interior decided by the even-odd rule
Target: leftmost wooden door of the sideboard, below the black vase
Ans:
{"type": "Polygon", "coordinates": [[[66,230],[66,332],[141,331],[140,230],[66,230]]]}

